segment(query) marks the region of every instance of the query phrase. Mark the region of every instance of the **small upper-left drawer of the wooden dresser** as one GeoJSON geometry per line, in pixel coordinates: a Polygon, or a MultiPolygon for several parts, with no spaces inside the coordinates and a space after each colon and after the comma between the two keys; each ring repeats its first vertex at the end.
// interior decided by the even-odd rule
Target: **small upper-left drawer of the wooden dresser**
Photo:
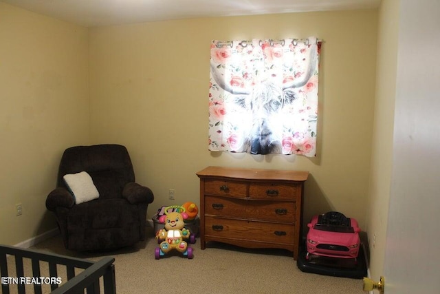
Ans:
{"type": "Polygon", "coordinates": [[[246,198],[248,185],[233,180],[205,180],[205,194],[246,198]]]}

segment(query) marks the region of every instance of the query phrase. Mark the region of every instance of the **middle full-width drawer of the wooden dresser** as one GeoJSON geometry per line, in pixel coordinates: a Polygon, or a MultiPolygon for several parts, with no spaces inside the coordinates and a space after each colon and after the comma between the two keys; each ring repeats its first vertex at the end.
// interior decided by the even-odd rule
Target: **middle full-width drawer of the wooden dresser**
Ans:
{"type": "Polygon", "coordinates": [[[205,197],[205,214],[229,218],[270,220],[293,223],[296,204],[287,201],[239,200],[216,196],[205,197]]]}

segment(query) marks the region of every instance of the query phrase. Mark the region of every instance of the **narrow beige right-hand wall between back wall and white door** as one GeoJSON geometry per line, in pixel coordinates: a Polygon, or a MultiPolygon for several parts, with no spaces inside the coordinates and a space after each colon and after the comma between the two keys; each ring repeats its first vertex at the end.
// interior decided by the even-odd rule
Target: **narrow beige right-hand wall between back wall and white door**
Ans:
{"type": "Polygon", "coordinates": [[[383,274],[393,168],[399,0],[382,1],[378,23],[375,120],[366,226],[371,252],[370,271],[376,280],[383,274]]]}

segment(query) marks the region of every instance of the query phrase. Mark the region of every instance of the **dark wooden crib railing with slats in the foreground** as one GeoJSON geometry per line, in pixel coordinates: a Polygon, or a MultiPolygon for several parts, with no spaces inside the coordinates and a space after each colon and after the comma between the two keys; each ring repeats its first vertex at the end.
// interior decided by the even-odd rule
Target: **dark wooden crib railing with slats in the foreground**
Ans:
{"type": "Polygon", "coordinates": [[[12,287],[12,293],[19,294],[26,291],[36,294],[85,291],[87,294],[113,294],[116,293],[114,261],[114,258],[104,257],[93,262],[0,245],[1,293],[11,293],[12,287]]]}

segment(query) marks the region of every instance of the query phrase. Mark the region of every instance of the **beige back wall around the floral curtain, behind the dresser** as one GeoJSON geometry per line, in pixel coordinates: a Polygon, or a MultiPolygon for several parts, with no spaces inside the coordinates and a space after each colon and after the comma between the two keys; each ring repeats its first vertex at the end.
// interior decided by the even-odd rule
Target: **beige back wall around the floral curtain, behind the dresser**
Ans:
{"type": "Polygon", "coordinates": [[[338,210],[366,227],[377,11],[220,17],[90,29],[91,142],[129,148],[137,182],[155,202],[199,203],[195,173],[208,165],[311,172],[305,220],[338,210]],[[208,151],[212,39],[317,36],[322,45],[318,156],[250,156],[208,151]],[[175,189],[175,201],[168,189],[175,189]]]}

